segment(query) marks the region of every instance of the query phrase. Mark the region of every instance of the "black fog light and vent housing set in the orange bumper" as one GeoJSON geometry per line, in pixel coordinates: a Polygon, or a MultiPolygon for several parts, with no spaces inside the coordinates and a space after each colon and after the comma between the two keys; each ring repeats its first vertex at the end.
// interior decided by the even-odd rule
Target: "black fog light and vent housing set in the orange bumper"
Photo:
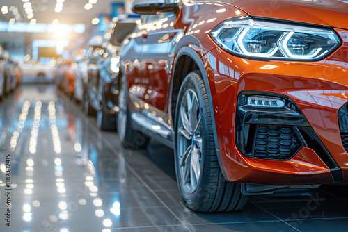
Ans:
{"type": "Polygon", "coordinates": [[[237,102],[236,143],[244,156],[288,160],[305,144],[296,126],[308,122],[289,97],[242,91],[237,102]]]}

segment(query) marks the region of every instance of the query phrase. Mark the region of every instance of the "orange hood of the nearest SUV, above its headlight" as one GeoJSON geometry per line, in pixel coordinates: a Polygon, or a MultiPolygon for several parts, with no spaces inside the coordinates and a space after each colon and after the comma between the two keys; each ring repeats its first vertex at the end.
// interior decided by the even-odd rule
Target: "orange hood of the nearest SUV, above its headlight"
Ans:
{"type": "Polygon", "coordinates": [[[348,0],[230,0],[251,16],[348,29],[348,0]]]}

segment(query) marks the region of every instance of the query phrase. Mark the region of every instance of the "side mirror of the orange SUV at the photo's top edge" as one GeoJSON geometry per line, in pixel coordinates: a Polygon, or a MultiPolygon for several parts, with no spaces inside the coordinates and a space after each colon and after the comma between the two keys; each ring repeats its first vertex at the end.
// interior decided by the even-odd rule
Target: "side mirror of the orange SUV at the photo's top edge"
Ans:
{"type": "Polygon", "coordinates": [[[179,7],[173,0],[134,0],[132,10],[136,14],[156,15],[161,12],[173,12],[179,7]]]}

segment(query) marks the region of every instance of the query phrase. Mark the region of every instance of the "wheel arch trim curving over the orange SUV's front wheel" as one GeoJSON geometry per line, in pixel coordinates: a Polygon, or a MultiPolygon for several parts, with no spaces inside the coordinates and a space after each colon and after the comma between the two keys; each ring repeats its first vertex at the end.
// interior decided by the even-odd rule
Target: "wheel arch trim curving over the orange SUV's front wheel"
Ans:
{"type": "Polygon", "coordinates": [[[215,142],[215,149],[216,149],[216,156],[219,160],[219,166],[221,169],[221,173],[223,174],[223,177],[227,180],[225,169],[223,168],[222,160],[221,160],[221,154],[219,149],[219,142],[217,140],[217,131],[216,131],[216,124],[215,124],[215,117],[214,117],[214,108],[213,108],[213,101],[212,101],[212,92],[210,90],[209,85],[209,79],[207,77],[207,72],[205,71],[205,66],[203,64],[203,61],[201,60],[198,53],[191,49],[190,47],[182,47],[178,52],[177,56],[175,58],[175,64],[173,67],[173,76],[171,80],[170,85],[170,102],[168,112],[169,115],[171,115],[171,122],[172,129],[175,128],[175,107],[177,103],[177,99],[180,92],[180,86],[182,84],[182,81],[184,81],[184,78],[189,74],[190,72],[198,70],[200,74],[203,77],[203,81],[205,83],[205,88],[207,90],[207,96],[209,101],[209,110],[212,118],[212,128],[213,128],[213,134],[214,134],[214,142],[215,142]],[[183,67],[181,65],[184,65],[183,67]]]}

